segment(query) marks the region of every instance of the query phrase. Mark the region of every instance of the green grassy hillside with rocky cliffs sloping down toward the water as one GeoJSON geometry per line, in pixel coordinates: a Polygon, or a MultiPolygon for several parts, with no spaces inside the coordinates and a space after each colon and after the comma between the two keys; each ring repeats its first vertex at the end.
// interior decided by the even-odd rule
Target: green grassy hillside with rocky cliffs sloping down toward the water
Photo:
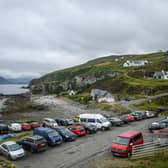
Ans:
{"type": "Polygon", "coordinates": [[[168,90],[168,80],[153,79],[156,71],[168,71],[168,52],[108,56],[55,71],[30,82],[33,93],[89,93],[106,89],[117,95],[152,95],[168,90]],[[141,67],[123,67],[127,60],[147,60],[141,67]]]}

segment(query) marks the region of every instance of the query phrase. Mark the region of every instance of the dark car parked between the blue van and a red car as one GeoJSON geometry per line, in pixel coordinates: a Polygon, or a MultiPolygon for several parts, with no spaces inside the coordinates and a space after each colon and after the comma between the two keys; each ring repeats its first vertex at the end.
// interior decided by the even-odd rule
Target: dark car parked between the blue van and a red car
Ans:
{"type": "Polygon", "coordinates": [[[66,127],[55,127],[53,128],[55,129],[63,138],[64,141],[74,141],[76,140],[76,134],[74,134],[73,132],[71,132],[68,128],[66,127]]]}

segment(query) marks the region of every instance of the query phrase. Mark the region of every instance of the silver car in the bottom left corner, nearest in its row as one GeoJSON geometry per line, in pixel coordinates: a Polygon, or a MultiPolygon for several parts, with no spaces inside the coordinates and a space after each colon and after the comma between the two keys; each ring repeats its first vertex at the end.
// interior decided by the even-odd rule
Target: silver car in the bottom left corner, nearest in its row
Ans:
{"type": "Polygon", "coordinates": [[[10,160],[16,160],[25,156],[24,149],[13,141],[7,141],[0,145],[0,152],[10,160]]]}

